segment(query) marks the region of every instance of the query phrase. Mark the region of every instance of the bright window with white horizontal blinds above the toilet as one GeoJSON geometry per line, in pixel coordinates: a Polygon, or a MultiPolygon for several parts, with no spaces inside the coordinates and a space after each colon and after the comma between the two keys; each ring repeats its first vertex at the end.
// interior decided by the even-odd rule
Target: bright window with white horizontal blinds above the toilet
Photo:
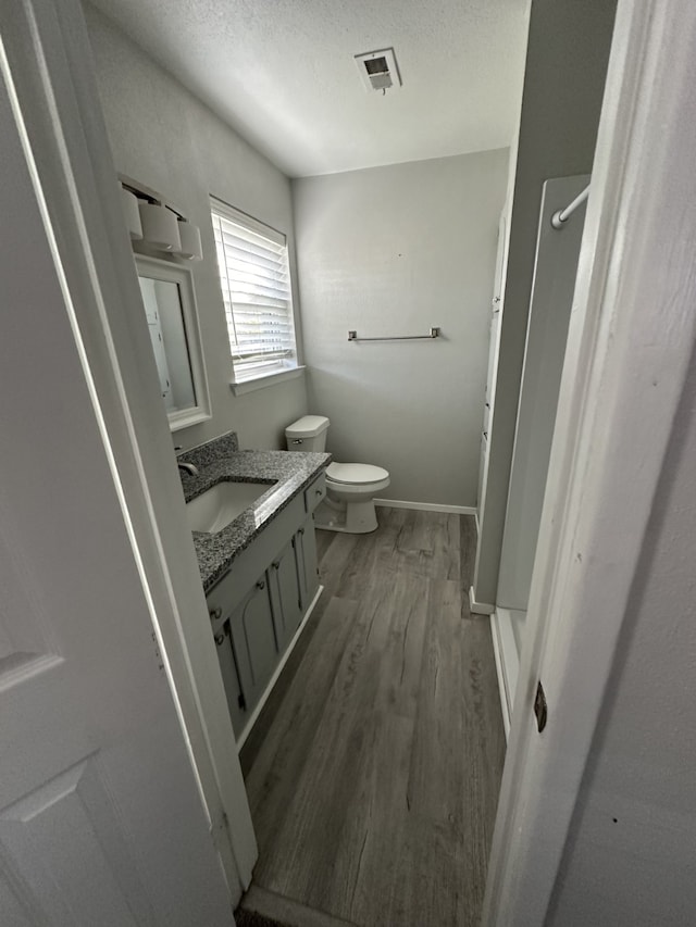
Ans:
{"type": "Polygon", "coordinates": [[[211,201],[234,381],[297,367],[290,270],[284,235],[211,201]]]}

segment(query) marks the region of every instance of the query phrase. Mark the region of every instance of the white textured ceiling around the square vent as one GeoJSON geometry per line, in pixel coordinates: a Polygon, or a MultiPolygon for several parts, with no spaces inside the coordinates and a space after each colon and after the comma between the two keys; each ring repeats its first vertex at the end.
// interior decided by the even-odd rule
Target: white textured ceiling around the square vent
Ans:
{"type": "Polygon", "coordinates": [[[92,0],[293,177],[502,148],[530,0],[92,0]],[[393,46],[403,86],[353,55],[393,46]]]}

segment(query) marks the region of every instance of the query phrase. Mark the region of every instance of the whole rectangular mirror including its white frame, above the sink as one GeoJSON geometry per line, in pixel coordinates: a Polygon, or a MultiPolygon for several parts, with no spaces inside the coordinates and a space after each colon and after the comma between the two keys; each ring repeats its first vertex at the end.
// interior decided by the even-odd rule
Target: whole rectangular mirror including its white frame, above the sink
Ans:
{"type": "Polygon", "coordinates": [[[135,255],[140,295],[170,428],[210,418],[208,380],[188,267],[135,255]]]}

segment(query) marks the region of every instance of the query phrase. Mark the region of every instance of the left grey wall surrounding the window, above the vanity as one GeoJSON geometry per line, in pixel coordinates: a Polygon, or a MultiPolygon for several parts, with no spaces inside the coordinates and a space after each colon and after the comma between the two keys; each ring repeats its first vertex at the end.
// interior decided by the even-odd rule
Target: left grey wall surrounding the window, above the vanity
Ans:
{"type": "Polygon", "coordinates": [[[161,192],[201,229],[204,259],[192,271],[213,417],[173,439],[188,448],[235,428],[241,447],[283,447],[283,429],[307,411],[304,378],[233,396],[209,196],[285,233],[294,270],[290,181],[88,3],[85,15],[116,171],[161,192]]]}

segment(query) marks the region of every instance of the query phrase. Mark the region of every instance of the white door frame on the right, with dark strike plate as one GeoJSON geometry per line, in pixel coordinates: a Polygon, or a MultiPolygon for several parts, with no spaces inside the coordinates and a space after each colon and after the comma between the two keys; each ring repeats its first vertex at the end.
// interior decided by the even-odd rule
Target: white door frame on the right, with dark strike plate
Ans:
{"type": "Polygon", "coordinates": [[[485,927],[546,923],[695,355],[694,36],[691,0],[619,0],[485,927]]]}

